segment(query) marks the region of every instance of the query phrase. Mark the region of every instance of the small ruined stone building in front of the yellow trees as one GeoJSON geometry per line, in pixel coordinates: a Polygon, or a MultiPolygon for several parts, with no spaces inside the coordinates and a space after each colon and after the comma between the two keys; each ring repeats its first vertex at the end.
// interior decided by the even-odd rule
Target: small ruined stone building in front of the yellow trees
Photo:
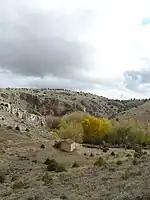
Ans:
{"type": "Polygon", "coordinates": [[[76,143],[71,139],[61,141],[60,149],[66,152],[72,152],[76,149],[76,143]]]}

